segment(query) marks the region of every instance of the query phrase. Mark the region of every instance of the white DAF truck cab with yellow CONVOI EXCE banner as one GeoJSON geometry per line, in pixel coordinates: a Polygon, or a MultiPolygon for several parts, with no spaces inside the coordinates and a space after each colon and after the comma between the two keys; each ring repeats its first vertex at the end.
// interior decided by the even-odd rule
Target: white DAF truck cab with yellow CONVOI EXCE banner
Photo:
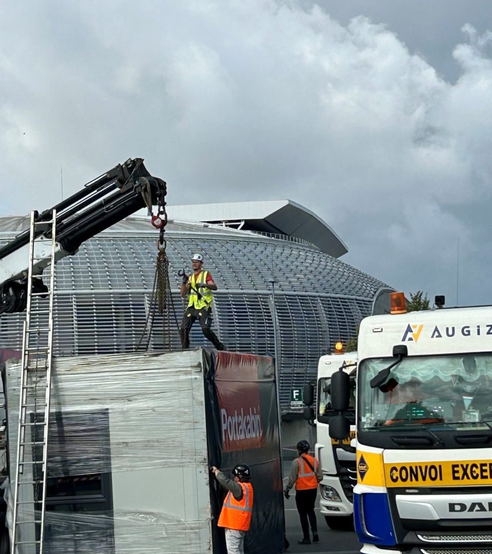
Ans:
{"type": "MultiPolygon", "coordinates": [[[[366,317],[358,355],[361,552],[492,552],[492,307],[366,317]]],[[[344,398],[330,425],[341,439],[343,373],[332,388],[344,398]]]]}

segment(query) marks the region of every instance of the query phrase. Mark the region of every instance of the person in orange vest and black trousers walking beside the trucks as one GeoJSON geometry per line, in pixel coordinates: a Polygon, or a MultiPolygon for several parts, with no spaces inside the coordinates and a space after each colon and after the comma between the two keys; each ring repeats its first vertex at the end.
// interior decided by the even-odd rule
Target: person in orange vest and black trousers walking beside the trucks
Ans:
{"type": "Polygon", "coordinates": [[[319,541],[318,524],[314,513],[314,503],[318,494],[318,483],[323,479],[323,472],[319,468],[318,460],[309,455],[309,443],[307,440],[299,440],[297,443],[299,457],[292,461],[289,481],[284,491],[284,496],[289,499],[289,490],[296,484],[296,506],[301,520],[302,541],[299,545],[310,545],[309,524],[313,532],[313,542],[319,541]]]}

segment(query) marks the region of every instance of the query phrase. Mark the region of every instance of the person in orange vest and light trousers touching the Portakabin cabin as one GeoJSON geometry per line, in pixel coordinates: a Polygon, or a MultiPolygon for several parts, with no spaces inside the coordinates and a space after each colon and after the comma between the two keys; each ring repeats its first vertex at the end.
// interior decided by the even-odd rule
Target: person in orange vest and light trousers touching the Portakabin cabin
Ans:
{"type": "Polygon", "coordinates": [[[211,466],[210,471],[220,486],[229,491],[217,522],[219,527],[225,529],[227,554],[244,554],[244,538],[250,529],[253,511],[253,487],[249,482],[251,470],[246,464],[236,465],[232,470],[232,479],[227,479],[215,465],[211,466]]]}

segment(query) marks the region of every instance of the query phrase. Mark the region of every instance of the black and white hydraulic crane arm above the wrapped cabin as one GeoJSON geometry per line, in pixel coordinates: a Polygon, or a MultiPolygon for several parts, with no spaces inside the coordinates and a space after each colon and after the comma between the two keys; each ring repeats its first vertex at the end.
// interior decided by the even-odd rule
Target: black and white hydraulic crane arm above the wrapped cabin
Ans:
{"type": "MultiPolygon", "coordinates": [[[[166,193],[166,183],[147,171],[142,158],[130,159],[90,181],[53,208],[40,214],[35,212],[35,220],[51,220],[56,209],[55,240],[60,245],[59,259],[75,254],[85,240],[141,208],[147,207],[154,227],[162,229],[166,193]],[[156,216],[153,206],[158,207],[156,216]]],[[[50,232],[39,230],[37,235],[40,234],[51,238],[50,232]]],[[[0,247],[0,314],[24,310],[28,257],[21,256],[20,250],[29,244],[29,235],[30,231],[25,230],[0,247]]]]}

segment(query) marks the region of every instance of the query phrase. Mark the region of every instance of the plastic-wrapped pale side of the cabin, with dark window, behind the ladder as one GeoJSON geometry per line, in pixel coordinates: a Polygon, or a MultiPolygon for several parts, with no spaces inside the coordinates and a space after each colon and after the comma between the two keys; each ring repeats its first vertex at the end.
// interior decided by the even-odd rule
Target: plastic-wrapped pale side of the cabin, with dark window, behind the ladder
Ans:
{"type": "MultiPolygon", "coordinates": [[[[202,367],[200,350],[55,358],[46,554],[212,551],[202,367]]],[[[7,362],[6,377],[15,479],[18,362],[7,362]]],[[[42,459],[42,450],[30,455],[42,459]]],[[[19,494],[29,500],[40,490],[23,485],[19,494]]],[[[26,506],[21,515],[34,519],[26,506]]],[[[23,527],[25,540],[39,533],[23,527]]],[[[34,554],[29,548],[18,554],[34,554]]]]}

